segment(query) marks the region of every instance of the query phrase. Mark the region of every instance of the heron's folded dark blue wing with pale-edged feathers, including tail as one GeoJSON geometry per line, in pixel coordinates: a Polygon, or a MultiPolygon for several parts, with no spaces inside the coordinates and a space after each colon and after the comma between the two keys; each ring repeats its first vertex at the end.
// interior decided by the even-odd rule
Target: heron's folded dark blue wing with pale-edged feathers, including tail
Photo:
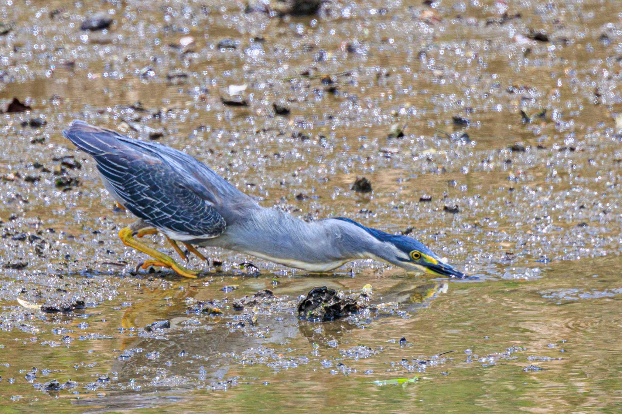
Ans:
{"type": "Polygon", "coordinates": [[[213,238],[225,231],[213,196],[179,168],[83,122],[74,122],[63,135],[95,158],[102,178],[136,217],[177,240],[213,238]]]}

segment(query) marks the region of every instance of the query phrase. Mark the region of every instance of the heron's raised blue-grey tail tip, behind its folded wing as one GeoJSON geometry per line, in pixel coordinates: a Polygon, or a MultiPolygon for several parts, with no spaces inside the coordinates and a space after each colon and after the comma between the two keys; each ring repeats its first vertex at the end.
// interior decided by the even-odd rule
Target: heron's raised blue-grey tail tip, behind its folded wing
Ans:
{"type": "Polygon", "coordinates": [[[81,120],[75,120],[69,125],[69,129],[63,130],[63,136],[73,142],[80,150],[93,156],[116,153],[123,147],[119,142],[119,134],[100,127],[86,124],[81,120]]]}

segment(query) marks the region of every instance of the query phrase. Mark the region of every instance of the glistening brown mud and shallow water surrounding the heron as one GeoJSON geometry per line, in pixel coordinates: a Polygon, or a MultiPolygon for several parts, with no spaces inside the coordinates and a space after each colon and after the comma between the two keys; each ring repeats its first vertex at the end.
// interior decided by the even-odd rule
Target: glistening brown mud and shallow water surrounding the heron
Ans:
{"type": "Polygon", "coordinates": [[[0,6],[2,411],[619,411],[618,4],[276,3],[0,6]],[[108,29],[80,29],[100,12],[108,29]],[[183,150],[262,205],[409,234],[474,278],[220,250],[190,260],[196,280],[136,273],[117,236],[133,218],[62,137],[73,119],[183,150]],[[351,190],[363,176],[373,192],[351,190]],[[367,284],[359,315],[297,318],[312,287],[367,284]],[[234,306],[262,289],[276,299],[234,306]]]}

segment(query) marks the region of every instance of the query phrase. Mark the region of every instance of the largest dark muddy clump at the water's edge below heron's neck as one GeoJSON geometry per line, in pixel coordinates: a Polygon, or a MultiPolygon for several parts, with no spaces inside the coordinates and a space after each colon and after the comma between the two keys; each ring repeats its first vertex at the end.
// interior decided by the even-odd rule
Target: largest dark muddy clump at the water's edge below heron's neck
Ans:
{"type": "Polygon", "coordinates": [[[348,296],[341,290],[313,287],[298,304],[298,316],[305,320],[327,322],[366,308],[368,297],[364,294],[348,296]]]}

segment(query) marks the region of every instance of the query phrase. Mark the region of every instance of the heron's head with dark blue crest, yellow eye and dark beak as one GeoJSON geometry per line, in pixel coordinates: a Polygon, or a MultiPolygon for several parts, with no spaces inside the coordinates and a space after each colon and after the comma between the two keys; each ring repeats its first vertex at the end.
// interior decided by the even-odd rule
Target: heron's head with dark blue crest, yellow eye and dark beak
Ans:
{"type": "Polygon", "coordinates": [[[363,228],[369,235],[373,236],[375,240],[371,239],[371,243],[361,243],[367,249],[363,254],[370,258],[381,259],[409,271],[425,272],[435,276],[457,277],[458,279],[467,277],[463,272],[444,263],[437,254],[412,237],[392,235],[374,228],[364,227],[350,220],[350,218],[340,217],[338,220],[363,228]]]}

